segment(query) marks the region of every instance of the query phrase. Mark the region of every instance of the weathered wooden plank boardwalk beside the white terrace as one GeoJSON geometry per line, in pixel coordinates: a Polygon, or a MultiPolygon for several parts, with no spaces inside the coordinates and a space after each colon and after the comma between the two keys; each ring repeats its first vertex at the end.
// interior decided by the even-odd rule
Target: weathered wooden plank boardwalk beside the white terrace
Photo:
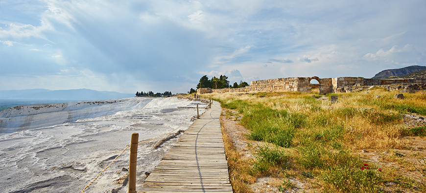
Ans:
{"type": "Polygon", "coordinates": [[[145,179],[142,193],[232,193],[220,112],[220,104],[213,102],[195,120],[145,179]]]}

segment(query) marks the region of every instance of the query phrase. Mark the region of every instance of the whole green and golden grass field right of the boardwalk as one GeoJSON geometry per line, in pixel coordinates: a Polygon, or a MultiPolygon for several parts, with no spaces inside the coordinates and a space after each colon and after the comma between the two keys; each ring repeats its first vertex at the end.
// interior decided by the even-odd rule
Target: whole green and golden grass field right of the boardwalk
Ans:
{"type": "Polygon", "coordinates": [[[235,192],[261,192],[253,187],[265,178],[275,192],[426,192],[426,126],[403,120],[426,116],[426,94],[395,99],[396,93],[203,97],[219,101],[226,120],[247,130],[240,136],[246,150],[224,135],[235,192]],[[338,102],[331,104],[330,95],[338,102]]]}

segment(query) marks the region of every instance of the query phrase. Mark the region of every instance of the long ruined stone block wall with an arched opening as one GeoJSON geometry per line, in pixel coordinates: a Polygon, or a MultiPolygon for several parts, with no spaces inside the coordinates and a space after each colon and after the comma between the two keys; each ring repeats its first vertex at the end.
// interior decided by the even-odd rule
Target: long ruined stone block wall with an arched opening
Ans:
{"type": "Polygon", "coordinates": [[[394,84],[426,84],[426,79],[366,79],[363,77],[337,77],[323,78],[318,77],[293,77],[276,78],[268,80],[252,81],[249,86],[243,88],[221,88],[206,89],[199,88],[198,94],[204,93],[225,93],[225,92],[310,92],[312,87],[319,87],[320,94],[335,93],[338,87],[354,86],[374,86],[374,85],[394,85],[394,84]],[[315,79],[318,84],[310,84],[315,79]]]}

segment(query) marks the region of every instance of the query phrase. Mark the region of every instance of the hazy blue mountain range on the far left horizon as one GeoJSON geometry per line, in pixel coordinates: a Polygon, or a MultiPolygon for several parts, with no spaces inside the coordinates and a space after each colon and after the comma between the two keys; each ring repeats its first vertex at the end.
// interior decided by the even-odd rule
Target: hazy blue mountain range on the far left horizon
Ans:
{"type": "Polygon", "coordinates": [[[26,99],[26,100],[70,100],[92,101],[134,97],[135,94],[123,94],[119,92],[97,91],[90,89],[71,90],[0,90],[0,99],[26,99]]]}

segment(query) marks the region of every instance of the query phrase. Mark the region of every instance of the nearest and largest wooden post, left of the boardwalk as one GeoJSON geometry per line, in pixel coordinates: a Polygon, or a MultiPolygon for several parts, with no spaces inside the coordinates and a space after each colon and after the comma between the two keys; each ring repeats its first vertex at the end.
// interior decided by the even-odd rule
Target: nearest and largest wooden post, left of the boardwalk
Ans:
{"type": "Polygon", "coordinates": [[[139,134],[132,133],[132,143],[130,144],[130,164],[129,164],[129,193],[136,193],[136,159],[138,157],[139,134]]]}

